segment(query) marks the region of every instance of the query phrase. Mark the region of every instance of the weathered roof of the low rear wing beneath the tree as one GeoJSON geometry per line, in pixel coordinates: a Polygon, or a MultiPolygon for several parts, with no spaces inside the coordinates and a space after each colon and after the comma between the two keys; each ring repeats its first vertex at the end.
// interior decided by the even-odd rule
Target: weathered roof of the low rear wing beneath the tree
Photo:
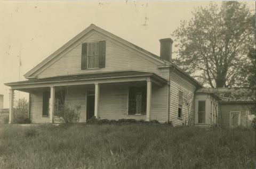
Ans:
{"type": "Polygon", "coordinates": [[[196,92],[217,94],[221,102],[255,102],[255,95],[247,88],[202,88],[196,92]]]}

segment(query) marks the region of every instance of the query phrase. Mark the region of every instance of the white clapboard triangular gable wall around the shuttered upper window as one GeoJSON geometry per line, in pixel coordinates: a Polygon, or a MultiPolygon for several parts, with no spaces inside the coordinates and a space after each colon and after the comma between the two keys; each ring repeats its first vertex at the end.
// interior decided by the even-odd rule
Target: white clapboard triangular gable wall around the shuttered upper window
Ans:
{"type": "MultiPolygon", "coordinates": [[[[82,43],[106,40],[102,35],[93,33],[86,37],[82,43]]],[[[109,72],[109,71],[143,71],[154,72],[166,79],[167,73],[157,68],[157,64],[153,63],[142,56],[131,52],[126,48],[106,40],[106,66],[101,69],[81,70],[81,49],[82,43],[77,46],[70,47],[71,50],[59,58],[51,65],[44,67],[45,70],[36,72],[38,78],[54,77],[67,74],[83,74],[92,72],[109,72]]],[[[146,56],[148,57],[148,56],[146,56]]]]}

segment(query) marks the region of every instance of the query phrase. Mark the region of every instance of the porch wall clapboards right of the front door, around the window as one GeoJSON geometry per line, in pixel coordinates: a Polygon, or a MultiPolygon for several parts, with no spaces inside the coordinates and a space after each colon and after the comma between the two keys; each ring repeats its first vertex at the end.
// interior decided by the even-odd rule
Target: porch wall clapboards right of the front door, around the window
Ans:
{"type": "MultiPolygon", "coordinates": [[[[146,85],[146,82],[145,82],[146,85]]],[[[135,119],[146,120],[146,115],[128,115],[128,85],[100,86],[99,112],[100,119],[135,119]]],[[[150,120],[166,122],[167,86],[152,86],[150,120]]]]}

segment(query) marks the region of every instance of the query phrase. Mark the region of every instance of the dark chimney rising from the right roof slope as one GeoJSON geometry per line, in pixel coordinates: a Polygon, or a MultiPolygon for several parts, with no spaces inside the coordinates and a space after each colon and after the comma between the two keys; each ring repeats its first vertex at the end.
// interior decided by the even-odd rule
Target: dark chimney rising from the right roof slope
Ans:
{"type": "Polygon", "coordinates": [[[172,43],[171,38],[160,39],[160,57],[166,61],[172,60],[172,43]]]}

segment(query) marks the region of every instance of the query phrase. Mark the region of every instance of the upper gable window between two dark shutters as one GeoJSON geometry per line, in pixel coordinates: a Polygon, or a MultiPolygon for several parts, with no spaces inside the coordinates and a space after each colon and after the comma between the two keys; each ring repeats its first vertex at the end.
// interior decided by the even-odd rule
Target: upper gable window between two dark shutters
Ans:
{"type": "Polygon", "coordinates": [[[88,68],[99,67],[99,43],[89,43],[88,44],[88,57],[87,64],[88,68]]]}

